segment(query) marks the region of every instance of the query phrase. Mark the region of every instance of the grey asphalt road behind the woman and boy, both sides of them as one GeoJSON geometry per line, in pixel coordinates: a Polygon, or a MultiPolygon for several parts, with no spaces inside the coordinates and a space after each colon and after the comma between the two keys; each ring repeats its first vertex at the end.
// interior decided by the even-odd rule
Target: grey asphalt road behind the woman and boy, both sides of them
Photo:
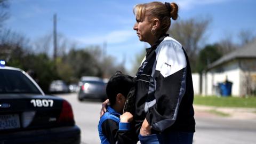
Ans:
{"type": "MultiPolygon", "coordinates": [[[[93,100],[79,102],[76,93],[56,95],[71,103],[76,124],[82,131],[82,143],[100,143],[97,126],[101,102],[93,100]]],[[[256,142],[256,119],[218,117],[197,111],[195,119],[196,133],[193,143],[253,144],[256,142]]]]}

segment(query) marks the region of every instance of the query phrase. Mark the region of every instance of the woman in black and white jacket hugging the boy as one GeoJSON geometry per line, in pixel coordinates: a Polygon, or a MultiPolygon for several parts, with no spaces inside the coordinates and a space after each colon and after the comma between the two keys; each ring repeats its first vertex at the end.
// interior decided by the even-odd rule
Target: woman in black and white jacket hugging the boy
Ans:
{"type": "MultiPolygon", "coordinates": [[[[135,5],[133,27],[150,44],[136,74],[135,129],[141,143],[192,143],[195,132],[193,83],[186,52],[166,34],[175,3],[135,5]]],[[[102,105],[106,105],[106,102],[102,105]]]]}

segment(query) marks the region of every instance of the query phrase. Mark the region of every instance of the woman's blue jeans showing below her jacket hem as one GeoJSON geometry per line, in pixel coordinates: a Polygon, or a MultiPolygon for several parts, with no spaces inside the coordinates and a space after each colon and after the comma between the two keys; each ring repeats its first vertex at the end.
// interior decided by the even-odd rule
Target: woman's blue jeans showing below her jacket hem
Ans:
{"type": "Polygon", "coordinates": [[[142,136],[139,134],[139,140],[141,144],[191,144],[193,142],[193,135],[193,132],[169,132],[161,134],[151,134],[147,136],[142,136]]]}

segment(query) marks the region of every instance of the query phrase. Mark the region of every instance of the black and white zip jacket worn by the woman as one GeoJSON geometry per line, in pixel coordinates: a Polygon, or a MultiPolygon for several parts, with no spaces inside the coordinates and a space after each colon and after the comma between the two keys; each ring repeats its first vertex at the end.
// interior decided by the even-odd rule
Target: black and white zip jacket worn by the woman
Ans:
{"type": "Polygon", "coordinates": [[[137,133],[145,118],[152,133],[195,132],[193,82],[182,45],[165,35],[146,51],[136,75],[137,133]]]}

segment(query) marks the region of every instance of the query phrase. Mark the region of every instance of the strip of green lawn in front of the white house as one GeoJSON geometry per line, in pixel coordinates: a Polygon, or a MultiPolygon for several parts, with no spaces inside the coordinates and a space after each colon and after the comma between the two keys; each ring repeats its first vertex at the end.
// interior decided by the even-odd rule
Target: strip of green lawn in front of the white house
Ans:
{"type": "Polygon", "coordinates": [[[202,97],[195,95],[195,105],[218,106],[218,107],[244,107],[256,108],[256,97],[237,98],[237,97],[202,97]]]}

